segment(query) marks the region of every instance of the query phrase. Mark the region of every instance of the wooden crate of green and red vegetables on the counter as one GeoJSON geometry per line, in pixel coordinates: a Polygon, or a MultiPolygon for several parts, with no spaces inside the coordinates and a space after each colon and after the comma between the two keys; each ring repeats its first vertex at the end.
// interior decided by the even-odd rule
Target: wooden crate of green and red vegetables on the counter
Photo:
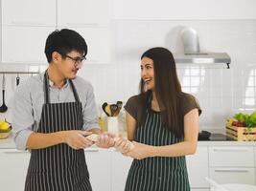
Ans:
{"type": "Polygon", "coordinates": [[[256,112],[235,114],[226,120],[226,136],[241,141],[256,141],[256,112]]]}

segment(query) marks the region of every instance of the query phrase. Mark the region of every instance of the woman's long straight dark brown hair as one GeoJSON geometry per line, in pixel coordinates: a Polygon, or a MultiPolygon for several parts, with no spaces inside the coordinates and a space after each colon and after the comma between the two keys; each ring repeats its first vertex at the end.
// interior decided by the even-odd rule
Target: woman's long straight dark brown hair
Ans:
{"type": "MultiPolygon", "coordinates": [[[[151,58],[153,61],[154,91],[163,123],[176,136],[183,136],[183,126],[178,126],[178,124],[180,125],[178,121],[182,120],[182,118],[179,118],[181,115],[178,115],[180,113],[178,96],[181,95],[181,86],[176,74],[173,53],[165,48],[156,47],[143,53],[141,59],[143,57],[151,58]]],[[[140,81],[140,92],[141,97],[149,97],[145,96],[147,90],[143,79],[140,81]]],[[[151,94],[151,91],[146,93],[146,95],[149,94],[151,94]]]]}

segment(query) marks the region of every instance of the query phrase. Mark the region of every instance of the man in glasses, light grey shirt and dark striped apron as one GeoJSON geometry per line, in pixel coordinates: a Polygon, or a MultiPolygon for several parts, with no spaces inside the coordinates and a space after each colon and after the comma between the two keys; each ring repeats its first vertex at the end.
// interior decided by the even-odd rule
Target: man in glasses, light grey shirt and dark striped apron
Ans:
{"type": "MultiPolygon", "coordinates": [[[[45,45],[48,69],[21,84],[14,96],[12,127],[17,149],[31,150],[26,191],[92,190],[83,148],[100,134],[92,86],[77,76],[87,45],[78,32],[52,32],[45,45]]],[[[108,148],[113,138],[97,145],[108,148]]]]}

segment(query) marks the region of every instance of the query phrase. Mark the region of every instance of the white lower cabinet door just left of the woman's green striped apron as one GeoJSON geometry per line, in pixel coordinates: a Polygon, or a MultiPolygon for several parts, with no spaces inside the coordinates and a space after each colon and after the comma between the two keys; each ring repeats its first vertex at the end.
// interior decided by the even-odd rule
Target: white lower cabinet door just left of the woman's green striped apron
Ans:
{"type": "Polygon", "coordinates": [[[124,157],[117,151],[112,152],[112,187],[111,191],[125,190],[126,181],[128,178],[128,170],[132,159],[124,157]]]}

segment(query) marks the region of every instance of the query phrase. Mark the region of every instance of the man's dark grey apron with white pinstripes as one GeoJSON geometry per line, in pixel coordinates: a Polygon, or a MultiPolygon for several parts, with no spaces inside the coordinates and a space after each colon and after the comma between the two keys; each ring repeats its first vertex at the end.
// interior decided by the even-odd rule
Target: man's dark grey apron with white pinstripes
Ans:
{"type": "MultiPolygon", "coordinates": [[[[45,103],[38,133],[82,130],[81,102],[72,80],[68,80],[76,102],[50,103],[49,79],[44,74],[45,103]]],[[[44,149],[33,149],[25,191],[91,191],[83,149],[72,149],[65,143],[44,149]]]]}

